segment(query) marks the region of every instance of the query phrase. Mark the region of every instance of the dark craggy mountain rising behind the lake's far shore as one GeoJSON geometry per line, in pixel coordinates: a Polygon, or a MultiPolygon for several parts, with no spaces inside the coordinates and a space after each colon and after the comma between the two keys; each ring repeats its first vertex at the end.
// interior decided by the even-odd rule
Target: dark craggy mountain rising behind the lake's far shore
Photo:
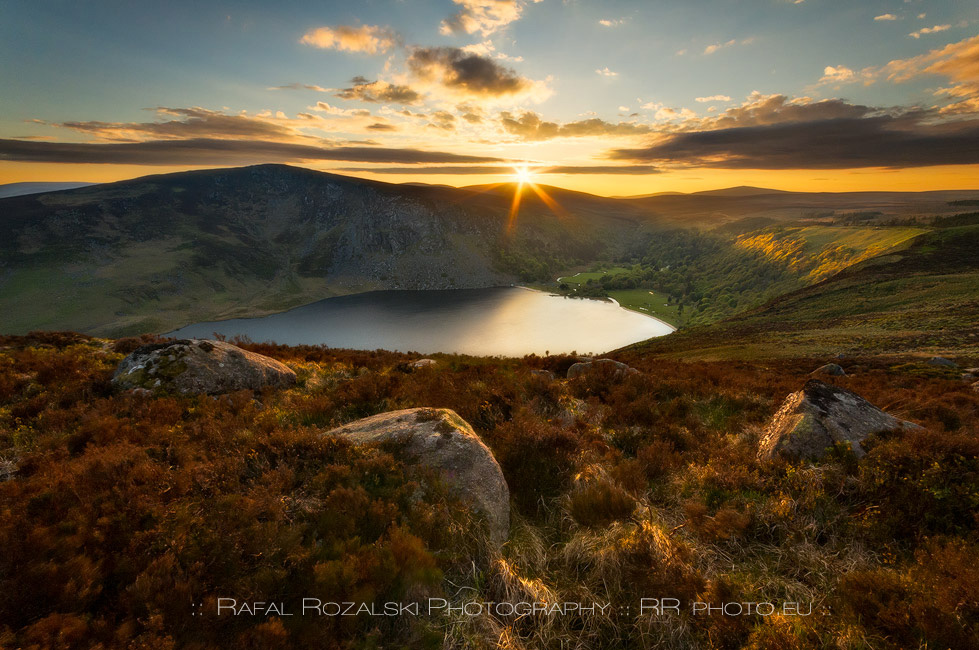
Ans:
{"type": "Polygon", "coordinates": [[[549,278],[654,226],[641,206],[580,193],[525,197],[511,219],[512,192],[259,165],[2,199],[0,332],[159,332],[375,289],[549,278]]]}

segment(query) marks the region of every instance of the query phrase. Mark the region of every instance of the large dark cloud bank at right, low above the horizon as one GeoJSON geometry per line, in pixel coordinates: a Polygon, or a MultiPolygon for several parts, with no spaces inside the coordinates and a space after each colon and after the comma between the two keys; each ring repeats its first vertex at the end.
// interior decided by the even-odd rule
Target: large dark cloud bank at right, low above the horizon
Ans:
{"type": "Polygon", "coordinates": [[[883,110],[838,99],[755,96],[612,160],[726,169],[849,169],[979,163],[979,120],[936,122],[937,111],[883,110]],[[691,128],[696,127],[696,128],[691,128]]]}

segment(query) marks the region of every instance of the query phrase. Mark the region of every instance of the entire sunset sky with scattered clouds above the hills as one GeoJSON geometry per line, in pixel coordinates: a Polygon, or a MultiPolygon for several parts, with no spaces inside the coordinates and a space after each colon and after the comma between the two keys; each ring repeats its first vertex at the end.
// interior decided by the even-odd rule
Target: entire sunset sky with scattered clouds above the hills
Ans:
{"type": "Polygon", "coordinates": [[[975,0],[0,0],[0,183],[979,189],[975,0]]]}

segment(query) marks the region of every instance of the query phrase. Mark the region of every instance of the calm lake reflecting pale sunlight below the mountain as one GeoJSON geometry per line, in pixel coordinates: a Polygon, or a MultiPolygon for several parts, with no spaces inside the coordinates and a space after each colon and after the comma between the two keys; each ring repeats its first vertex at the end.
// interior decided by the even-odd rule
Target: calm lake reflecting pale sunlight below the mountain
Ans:
{"type": "Polygon", "coordinates": [[[614,302],[498,287],[373,291],[262,318],[196,323],[170,335],[209,338],[216,332],[287,345],[523,356],[598,354],[671,331],[666,323],[614,302]]]}

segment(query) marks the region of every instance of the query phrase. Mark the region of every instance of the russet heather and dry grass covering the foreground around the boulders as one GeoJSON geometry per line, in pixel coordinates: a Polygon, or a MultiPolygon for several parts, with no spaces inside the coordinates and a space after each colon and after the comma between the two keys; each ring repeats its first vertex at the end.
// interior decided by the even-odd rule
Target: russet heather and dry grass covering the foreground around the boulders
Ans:
{"type": "MultiPolygon", "coordinates": [[[[288,390],[113,392],[141,341],[0,338],[0,640],[23,648],[979,647],[979,393],[913,358],[843,360],[841,386],[924,430],[858,460],[759,462],[814,358],[562,377],[572,356],[438,356],[244,344],[288,390]],[[447,407],[509,484],[497,554],[396,445],[319,433],[447,407]],[[216,613],[218,598],[607,603],[568,615],[216,613]],[[679,613],[640,614],[642,598],[679,613]],[[772,615],[690,605],[772,602],[772,615]],[[803,613],[783,611],[799,603],[803,613]]],[[[145,341],[143,341],[145,342],[145,341]]],[[[979,356],[957,359],[979,365],[979,356]]],[[[475,522],[478,523],[478,522],[475,522]]]]}

